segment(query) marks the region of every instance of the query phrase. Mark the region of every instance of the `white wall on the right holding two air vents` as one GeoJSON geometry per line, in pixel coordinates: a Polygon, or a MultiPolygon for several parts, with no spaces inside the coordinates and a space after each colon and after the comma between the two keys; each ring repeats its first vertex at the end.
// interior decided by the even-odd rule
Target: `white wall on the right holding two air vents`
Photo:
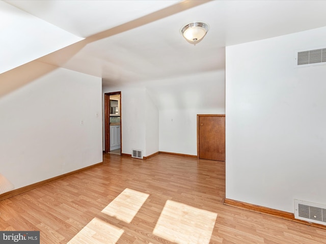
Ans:
{"type": "Polygon", "coordinates": [[[326,46],[326,27],[226,48],[226,197],[293,212],[326,204],[326,66],[294,50],[326,46]]]}

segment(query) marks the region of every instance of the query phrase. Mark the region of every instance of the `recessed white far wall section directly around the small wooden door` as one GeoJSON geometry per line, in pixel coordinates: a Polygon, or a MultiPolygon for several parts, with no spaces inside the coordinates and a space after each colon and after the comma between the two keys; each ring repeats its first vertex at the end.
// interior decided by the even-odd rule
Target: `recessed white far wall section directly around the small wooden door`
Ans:
{"type": "Polygon", "coordinates": [[[197,155],[197,114],[225,113],[224,70],[148,85],[159,109],[159,151],[197,155]]]}

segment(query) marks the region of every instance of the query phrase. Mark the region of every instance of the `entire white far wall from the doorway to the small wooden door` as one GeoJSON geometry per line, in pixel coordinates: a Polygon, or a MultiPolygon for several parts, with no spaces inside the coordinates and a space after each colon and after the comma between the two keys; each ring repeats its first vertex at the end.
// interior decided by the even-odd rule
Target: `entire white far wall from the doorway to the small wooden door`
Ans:
{"type": "Polygon", "coordinates": [[[125,154],[141,149],[144,156],[157,151],[197,155],[197,114],[225,113],[224,70],[149,81],[138,87],[103,87],[103,93],[119,91],[125,154]]]}

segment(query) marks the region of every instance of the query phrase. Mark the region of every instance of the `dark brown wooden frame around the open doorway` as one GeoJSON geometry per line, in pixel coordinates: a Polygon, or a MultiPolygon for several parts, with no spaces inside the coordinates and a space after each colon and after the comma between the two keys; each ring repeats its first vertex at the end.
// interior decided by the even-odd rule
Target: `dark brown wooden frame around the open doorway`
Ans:
{"type": "Polygon", "coordinates": [[[121,92],[104,93],[104,153],[110,152],[110,96],[120,95],[120,143],[122,154],[122,109],[121,109],[121,92]],[[109,126],[106,126],[109,125],[109,126]]]}

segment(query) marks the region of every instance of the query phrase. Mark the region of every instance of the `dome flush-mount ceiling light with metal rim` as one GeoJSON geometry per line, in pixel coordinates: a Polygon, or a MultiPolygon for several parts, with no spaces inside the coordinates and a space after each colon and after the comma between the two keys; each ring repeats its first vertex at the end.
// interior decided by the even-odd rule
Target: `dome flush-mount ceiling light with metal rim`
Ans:
{"type": "Polygon", "coordinates": [[[208,32],[209,25],[203,22],[191,22],[180,29],[181,35],[191,44],[196,45],[208,32]]]}

